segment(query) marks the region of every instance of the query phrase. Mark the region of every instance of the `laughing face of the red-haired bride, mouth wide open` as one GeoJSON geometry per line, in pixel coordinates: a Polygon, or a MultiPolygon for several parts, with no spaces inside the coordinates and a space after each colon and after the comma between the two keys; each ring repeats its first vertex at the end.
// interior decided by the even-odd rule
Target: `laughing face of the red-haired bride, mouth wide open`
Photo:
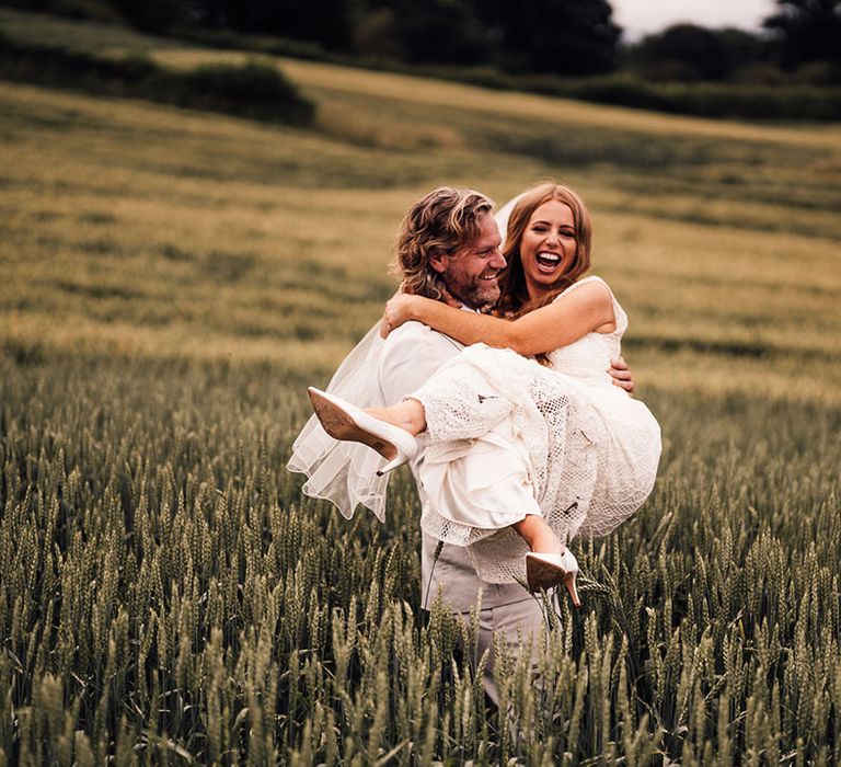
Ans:
{"type": "Polygon", "coordinates": [[[531,214],[520,241],[520,260],[530,298],[557,285],[572,265],[577,247],[575,218],[568,205],[550,199],[531,214]]]}

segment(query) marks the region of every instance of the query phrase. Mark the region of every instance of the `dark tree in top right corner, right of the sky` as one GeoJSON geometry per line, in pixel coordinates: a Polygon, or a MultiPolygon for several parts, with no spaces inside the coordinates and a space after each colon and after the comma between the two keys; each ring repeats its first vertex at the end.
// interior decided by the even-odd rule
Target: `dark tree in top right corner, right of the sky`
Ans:
{"type": "Polygon", "coordinates": [[[841,66],[841,0],[777,0],[763,26],[779,36],[781,64],[807,61],[841,66]]]}

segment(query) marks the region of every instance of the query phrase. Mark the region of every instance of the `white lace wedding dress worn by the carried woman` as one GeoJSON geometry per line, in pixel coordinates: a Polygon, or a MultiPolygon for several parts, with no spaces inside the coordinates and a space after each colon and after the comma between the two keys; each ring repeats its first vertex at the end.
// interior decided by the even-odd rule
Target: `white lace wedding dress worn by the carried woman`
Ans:
{"type": "MultiPolygon", "coordinates": [[[[567,291],[592,281],[604,284],[587,277],[567,291]]],[[[526,514],[542,515],[563,541],[607,535],[654,486],[660,428],[611,382],[627,328],[615,298],[613,311],[615,331],[552,352],[551,367],[475,344],[411,394],[427,421],[422,526],[469,547],[484,581],[523,577],[528,548],[509,526],[526,514]]]]}

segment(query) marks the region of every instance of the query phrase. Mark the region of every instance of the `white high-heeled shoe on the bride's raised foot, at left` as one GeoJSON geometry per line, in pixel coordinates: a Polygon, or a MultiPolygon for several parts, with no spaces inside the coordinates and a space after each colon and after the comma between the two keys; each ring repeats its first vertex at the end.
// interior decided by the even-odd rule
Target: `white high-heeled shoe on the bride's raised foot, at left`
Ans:
{"type": "Polygon", "coordinates": [[[378,477],[411,461],[417,454],[417,439],[400,426],[368,415],[355,404],[315,387],[311,386],[307,392],[315,415],[331,437],[368,445],[389,460],[377,472],[378,477]]]}

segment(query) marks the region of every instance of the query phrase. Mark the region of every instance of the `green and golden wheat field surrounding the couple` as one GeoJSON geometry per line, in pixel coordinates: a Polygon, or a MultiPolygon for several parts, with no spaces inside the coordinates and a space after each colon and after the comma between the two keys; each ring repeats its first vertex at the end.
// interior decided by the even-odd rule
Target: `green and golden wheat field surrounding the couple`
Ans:
{"type": "Polygon", "coordinates": [[[0,82],[0,763],[841,763],[841,130],[278,64],[314,129],[0,82]],[[665,454],[500,717],[418,615],[408,476],[383,528],[284,467],[408,205],[546,176],[665,454]]]}

